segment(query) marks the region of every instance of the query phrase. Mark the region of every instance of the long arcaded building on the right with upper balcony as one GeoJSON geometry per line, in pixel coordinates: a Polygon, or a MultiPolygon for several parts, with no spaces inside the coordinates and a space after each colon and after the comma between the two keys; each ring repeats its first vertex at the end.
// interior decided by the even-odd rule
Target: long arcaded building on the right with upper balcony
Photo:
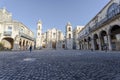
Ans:
{"type": "Polygon", "coordinates": [[[79,43],[82,50],[120,50],[120,0],[110,0],[81,30],[79,43]]]}

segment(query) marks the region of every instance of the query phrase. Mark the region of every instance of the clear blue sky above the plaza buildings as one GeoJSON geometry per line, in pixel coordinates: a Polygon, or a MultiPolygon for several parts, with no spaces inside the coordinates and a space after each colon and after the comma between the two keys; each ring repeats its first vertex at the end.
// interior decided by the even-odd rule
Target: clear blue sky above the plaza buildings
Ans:
{"type": "Polygon", "coordinates": [[[56,28],[65,33],[70,22],[86,25],[110,0],[0,0],[0,8],[6,8],[36,35],[37,22],[42,21],[43,32],[56,28]]]}

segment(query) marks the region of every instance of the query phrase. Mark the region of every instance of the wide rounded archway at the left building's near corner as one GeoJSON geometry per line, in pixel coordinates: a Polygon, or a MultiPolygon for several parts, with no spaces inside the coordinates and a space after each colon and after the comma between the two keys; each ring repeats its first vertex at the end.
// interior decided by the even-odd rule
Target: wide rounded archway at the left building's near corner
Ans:
{"type": "Polygon", "coordinates": [[[3,38],[1,42],[5,49],[13,49],[14,40],[12,38],[3,38]]]}

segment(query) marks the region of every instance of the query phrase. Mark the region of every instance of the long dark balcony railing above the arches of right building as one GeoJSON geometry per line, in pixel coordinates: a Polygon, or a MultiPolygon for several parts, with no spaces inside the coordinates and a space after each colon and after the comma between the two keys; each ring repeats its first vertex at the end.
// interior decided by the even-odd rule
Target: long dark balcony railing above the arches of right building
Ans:
{"type": "Polygon", "coordinates": [[[97,22],[92,28],[90,28],[90,32],[95,31],[96,29],[100,28],[103,24],[111,21],[112,19],[117,18],[118,15],[120,15],[120,6],[118,6],[111,13],[108,13],[105,18],[103,18],[101,21],[97,22]]]}

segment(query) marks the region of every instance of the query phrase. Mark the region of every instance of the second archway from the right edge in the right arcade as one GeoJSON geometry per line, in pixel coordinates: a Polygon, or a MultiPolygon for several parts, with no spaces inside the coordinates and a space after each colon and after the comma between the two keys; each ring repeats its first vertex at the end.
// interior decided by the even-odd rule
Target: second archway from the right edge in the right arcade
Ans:
{"type": "Polygon", "coordinates": [[[105,47],[108,47],[108,40],[107,40],[107,32],[101,31],[100,32],[100,41],[101,41],[101,49],[105,50],[105,47]]]}

